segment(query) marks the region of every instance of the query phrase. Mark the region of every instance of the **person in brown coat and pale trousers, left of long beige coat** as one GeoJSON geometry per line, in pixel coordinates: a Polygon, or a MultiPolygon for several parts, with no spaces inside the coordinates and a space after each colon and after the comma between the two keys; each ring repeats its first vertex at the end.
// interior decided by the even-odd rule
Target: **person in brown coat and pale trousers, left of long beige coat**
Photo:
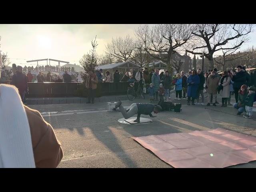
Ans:
{"type": "Polygon", "coordinates": [[[212,95],[212,98],[214,99],[213,106],[216,106],[216,94],[218,92],[218,83],[220,79],[217,77],[216,72],[212,71],[210,76],[206,80],[206,86],[207,86],[207,94],[208,94],[208,104],[207,106],[210,106],[210,97],[212,95]]]}

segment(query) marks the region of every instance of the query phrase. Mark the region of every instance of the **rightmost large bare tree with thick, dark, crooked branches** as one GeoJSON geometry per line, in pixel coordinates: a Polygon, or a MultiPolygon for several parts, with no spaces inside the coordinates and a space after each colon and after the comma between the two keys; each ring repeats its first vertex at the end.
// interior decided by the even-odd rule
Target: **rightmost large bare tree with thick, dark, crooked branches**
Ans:
{"type": "Polygon", "coordinates": [[[252,32],[252,24],[198,24],[192,34],[196,37],[191,41],[192,54],[202,54],[208,58],[210,68],[214,68],[213,55],[219,50],[235,50],[246,40],[252,32]],[[226,46],[229,41],[236,40],[234,46],[226,46]],[[199,52],[198,52],[199,51],[199,52]]]}

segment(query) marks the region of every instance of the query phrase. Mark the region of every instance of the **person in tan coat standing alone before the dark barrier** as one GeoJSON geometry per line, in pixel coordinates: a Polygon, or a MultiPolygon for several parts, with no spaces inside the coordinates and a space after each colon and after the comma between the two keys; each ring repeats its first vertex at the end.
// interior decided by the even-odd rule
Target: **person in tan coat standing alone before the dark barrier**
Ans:
{"type": "Polygon", "coordinates": [[[86,79],[86,88],[88,89],[88,100],[86,103],[90,103],[92,100],[92,103],[94,103],[94,97],[96,93],[96,88],[98,84],[98,77],[94,73],[94,70],[90,72],[90,75],[87,76],[86,79]]]}

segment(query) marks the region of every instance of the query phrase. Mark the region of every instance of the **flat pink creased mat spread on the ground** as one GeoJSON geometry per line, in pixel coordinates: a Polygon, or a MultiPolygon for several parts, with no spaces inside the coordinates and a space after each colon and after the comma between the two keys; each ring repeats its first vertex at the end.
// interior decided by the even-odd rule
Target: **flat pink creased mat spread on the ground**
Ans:
{"type": "Polygon", "coordinates": [[[256,138],[217,128],[132,137],[174,168],[224,168],[256,160],[256,138]]]}

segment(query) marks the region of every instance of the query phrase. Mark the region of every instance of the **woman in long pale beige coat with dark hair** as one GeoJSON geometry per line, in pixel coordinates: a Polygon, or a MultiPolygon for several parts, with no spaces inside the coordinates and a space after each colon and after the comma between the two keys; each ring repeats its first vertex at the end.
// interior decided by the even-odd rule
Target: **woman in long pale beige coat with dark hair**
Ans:
{"type": "Polygon", "coordinates": [[[219,86],[221,86],[220,96],[222,97],[222,107],[226,107],[230,94],[230,81],[231,78],[227,71],[222,72],[222,78],[220,79],[219,86]]]}

